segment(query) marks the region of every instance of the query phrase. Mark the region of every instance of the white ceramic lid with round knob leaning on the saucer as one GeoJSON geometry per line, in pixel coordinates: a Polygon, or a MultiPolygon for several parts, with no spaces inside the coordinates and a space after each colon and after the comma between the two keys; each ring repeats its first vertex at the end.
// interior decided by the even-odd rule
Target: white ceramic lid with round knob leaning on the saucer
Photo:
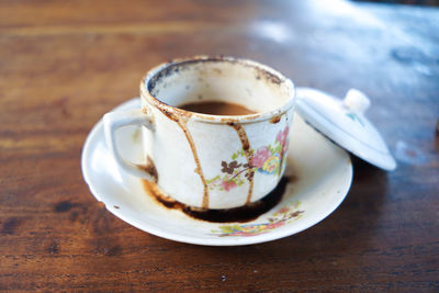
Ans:
{"type": "Polygon", "coordinates": [[[368,97],[350,89],[344,100],[312,88],[296,89],[296,111],[314,128],[357,157],[387,171],[396,161],[365,117],[368,97]]]}

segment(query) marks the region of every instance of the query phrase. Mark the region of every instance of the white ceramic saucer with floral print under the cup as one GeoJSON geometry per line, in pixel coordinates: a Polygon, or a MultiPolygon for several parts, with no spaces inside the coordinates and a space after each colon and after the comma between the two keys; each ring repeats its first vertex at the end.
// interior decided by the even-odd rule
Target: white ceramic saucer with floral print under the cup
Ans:
{"type": "MultiPolygon", "coordinates": [[[[140,106],[138,98],[117,110],[140,106]]],[[[149,195],[140,179],[122,171],[110,155],[102,120],[90,132],[82,149],[82,174],[94,198],[126,223],[156,236],[196,245],[236,246],[270,241],[317,224],[346,198],[351,180],[349,155],[294,115],[282,200],[270,211],[246,223],[211,223],[166,207],[149,195]]],[[[142,162],[142,132],[127,126],[117,133],[122,155],[142,162]]]]}

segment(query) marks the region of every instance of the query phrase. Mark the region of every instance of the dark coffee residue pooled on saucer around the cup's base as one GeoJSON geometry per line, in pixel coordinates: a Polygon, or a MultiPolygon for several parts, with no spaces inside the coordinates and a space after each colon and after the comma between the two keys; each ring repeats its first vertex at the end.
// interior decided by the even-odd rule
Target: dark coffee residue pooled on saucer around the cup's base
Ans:
{"type": "Polygon", "coordinates": [[[207,210],[207,209],[191,207],[166,195],[157,187],[157,184],[146,180],[143,180],[143,183],[146,191],[149,194],[151,194],[164,206],[168,209],[180,210],[181,212],[193,218],[213,223],[229,223],[229,222],[245,223],[256,219],[260,215],[273,209],[282,200],[288,183],[294,180],[295,180],[294,177],[293,178],[283,177],[280,180],[277,188],[261,200],[249,203],[245,206],[239,206],[235,209],[225,209],[225,210],[207,210]]]}

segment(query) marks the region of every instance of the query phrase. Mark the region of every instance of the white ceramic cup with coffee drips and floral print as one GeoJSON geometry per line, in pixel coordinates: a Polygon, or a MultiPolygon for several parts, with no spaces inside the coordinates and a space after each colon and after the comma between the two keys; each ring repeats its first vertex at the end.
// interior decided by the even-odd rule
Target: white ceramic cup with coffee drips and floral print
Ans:
{"type": "Polygon", "coordinates": [[[142,109],[103,117],[109,149],[126,172],[202,209],[243,206],[279,183],[295,100],[292,81],[280,72],[232,57],[178,59],[146,75],[140,98],[142,109]],[[256,114],[211,115],[178,108],[203,101],[237,103],[256,114]],[[145,126],[145,165],[117,151],[116,129],[133,124],[145,126]]]}

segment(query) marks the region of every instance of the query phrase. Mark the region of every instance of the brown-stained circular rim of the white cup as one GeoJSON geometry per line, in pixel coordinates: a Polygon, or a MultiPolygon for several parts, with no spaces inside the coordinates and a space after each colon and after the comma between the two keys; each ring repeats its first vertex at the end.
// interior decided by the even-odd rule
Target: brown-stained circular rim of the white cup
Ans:
{"type": "Polygon", "coordinates": [[[254,61],[246,58],[236,58],[230,56],[194,56],[194,57],[185,57],[185,58],[176,58],[168,63],[162,63],[153,69],[150,69],[144,78],[140,80],[140,98],[145,99],[147,102],[151,103],[162,112],[167,113],[167,115],[171,116],[187,116],[194,119],[200,122],[205,123],[215,123],[215,124],[224,124],[224,123],[254,123],[259,121],[271,120],[274,116],[280,116],[286,113],[291,108],[293,108],[295,99],[296,99],[296,88],[293,81],[285,76],[283,76],[278,70],[260,64],[258,61],[254,61]],[[281,106],[278,106],[274,110],[267,112],[258,112],[254,114],[246,115],[215,115],[215,114],[204,114],[199,112],[192,112],[189,110],[183,110],[170,104],[167,104],[160,101],[158,98],[154,97],[148,90],[149,82],[153,78],[165,70],[175,65],[181,65],[187,63],[200,63],[200,61],[229,61],[229,63],[238,63],[241,65],[251,66],[254,68],[262,70],[264,74],[269,74],[273,79],[278,80],[279,84],[285,83],[286,87],[291,88],[291,93],[289,93],[286,102],[284,102],[281,106]]]}

